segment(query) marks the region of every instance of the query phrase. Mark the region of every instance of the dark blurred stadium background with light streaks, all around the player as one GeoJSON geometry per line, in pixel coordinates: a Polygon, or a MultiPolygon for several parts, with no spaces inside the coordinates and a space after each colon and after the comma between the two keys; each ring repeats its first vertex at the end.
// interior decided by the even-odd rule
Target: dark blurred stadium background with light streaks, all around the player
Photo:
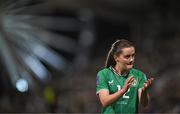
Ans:
{"type": "Polygon", "coordinates": [[[0,112],[99,113],[96,74],[111,44],[124,38],[136,46],[134,67],[155,79],[150,105],[140,112],[179,113],[179,4],[1,0],[0,112]],[[24,91],[19,79],[28,84],[24,91]]]}

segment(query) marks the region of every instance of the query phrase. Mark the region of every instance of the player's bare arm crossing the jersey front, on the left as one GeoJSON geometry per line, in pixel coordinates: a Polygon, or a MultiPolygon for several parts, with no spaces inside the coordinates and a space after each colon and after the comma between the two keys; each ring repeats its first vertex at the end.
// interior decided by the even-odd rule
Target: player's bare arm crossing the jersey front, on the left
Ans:
{"type": "Polygon", "coordinates": [[[112,104],[119,97],[123,96],[126,93],[126,91],[129,89],[129,87],[133,81],[134,81],[134,78],[129,77],[128,80],[126,81],[124,87],[114,94],[109,94],[109,91],[107,89],[101,90],[99,92],[99,98],[100,98],[100,101],[101,101],[103,107],[106,107],[106,106],[112,104]]]}

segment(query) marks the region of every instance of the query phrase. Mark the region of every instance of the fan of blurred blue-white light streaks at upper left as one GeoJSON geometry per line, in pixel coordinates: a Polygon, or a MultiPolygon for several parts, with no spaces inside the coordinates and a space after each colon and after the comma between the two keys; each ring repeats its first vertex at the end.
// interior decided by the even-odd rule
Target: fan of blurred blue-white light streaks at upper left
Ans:
{"type": "MultiPolygon", "coordinates": [[[[51,79],[50,66],[65,71],[69,61],[60,51],[75,55],[76,41],[53,31],[79,31],[80,21],[70,17],[39,15],[46,1],[0,1],[0,54],[12,85],[20,92],[29,89],[26,79],[34,76],[41,82],[51,79]],[[21,69],[21,70],[19,70],[21,69]],[[23,70],[22,70],[23,69],[23,70]],[[26,72],[26,78],[22,78],[26,72]]],[[[31,86],[33,87],[33,86],[31,86]]]]}

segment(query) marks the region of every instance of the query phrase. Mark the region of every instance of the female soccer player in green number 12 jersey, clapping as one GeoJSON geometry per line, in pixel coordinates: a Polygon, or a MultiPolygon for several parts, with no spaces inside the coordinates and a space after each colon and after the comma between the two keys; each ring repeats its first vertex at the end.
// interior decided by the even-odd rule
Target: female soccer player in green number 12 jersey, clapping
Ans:
{"type": "Polygon", "coordinates": [[[105,68],[97,74],[96,94],[102,113],[136,113],[138,103],[149,102],[148,88],[153,78],[133,68],[135,47],[128,40],[117,40],[107,55],[105,68]]]}

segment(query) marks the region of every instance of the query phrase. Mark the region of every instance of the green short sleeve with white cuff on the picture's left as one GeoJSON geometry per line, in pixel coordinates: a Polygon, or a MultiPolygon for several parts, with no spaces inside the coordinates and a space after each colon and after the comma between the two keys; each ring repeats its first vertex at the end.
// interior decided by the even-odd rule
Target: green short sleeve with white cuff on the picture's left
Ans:
{"type": "Polygon", "coordinates": [[[107,79],[103,72],[98,72],[96,77],[96,94],[99,94],[99,92],[103,89],[108,89],[107,79]]]}

